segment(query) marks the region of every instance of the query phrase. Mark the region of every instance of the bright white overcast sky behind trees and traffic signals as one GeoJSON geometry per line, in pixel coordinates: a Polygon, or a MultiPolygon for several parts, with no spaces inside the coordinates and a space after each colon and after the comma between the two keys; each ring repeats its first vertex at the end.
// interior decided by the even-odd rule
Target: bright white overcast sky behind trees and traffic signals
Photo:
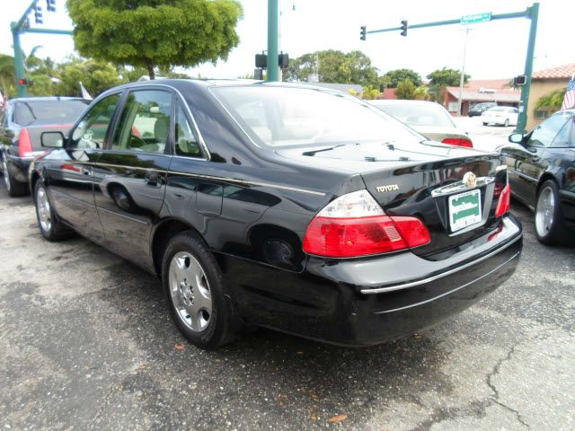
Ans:
{"type": "MultiPolygon", "coordinates": [[[[0,0],[0,53],[13,55],[10,22],[17,21],[31,0],[0,0]]],[[[237,26],[240,44],[226,62],[204,64],[187,69],[191,76],[235,78],[252,74],[254,55],[267,48],[267,2],[243,0],[243,20],[237,26]]],[[[57,12],[47,13],[46,29],[72,29],[64,0],[57,0],[57,12]]],[[[491,12],[525,11],[533,1],[523,0],[279,0],[280,50],[299,57],[323,49],[344,52],[359,49],[371,58],[381,75],[388,70],[411,68],[424,76],[443,66],[461,69],[464,60],[464,27],[460,24],[410,29],[407,37],[400,31],[368,34],[359,40],[359,27],[367,31],[396,27],[402,20],[409,24],[458,19],[461,16],[491,12]]],[[[534,70],[575,63],[571,29],[575,1],[541,0],[534,70]],[[569,38],[569,39],[568,39],[569,38]]],[[[509,79],[523,73],[529,20],[516,18],[483,22],[469,26],[465,73],[472,79],[509,79]]],[[[71,36],[24,34],[22,48],[30,52],[40,45],[40,57],[62,60],[73,54],[71,36]]]]}

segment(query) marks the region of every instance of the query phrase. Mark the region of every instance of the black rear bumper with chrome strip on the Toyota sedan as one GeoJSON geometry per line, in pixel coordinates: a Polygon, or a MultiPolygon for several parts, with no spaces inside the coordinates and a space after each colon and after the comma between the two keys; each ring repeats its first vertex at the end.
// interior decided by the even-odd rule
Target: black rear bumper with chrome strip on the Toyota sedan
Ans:
{"type": "Polygon", "coordinates": [[[244,321],[346,346],[369,346],[423,330],[479,301],[517,268],[521,225],[441,261],[411,252],[373,259],[310,258],[303,273],[226,262],[230,295],[244,321]],[[270,283],[270,280],[273,280],[270,283]]]}

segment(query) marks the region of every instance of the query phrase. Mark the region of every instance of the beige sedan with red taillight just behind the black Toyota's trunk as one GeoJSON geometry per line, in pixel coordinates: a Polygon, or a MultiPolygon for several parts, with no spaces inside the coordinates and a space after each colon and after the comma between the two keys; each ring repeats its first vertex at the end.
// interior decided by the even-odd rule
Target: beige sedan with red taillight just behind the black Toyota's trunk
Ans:
{"type": "Polygon", "coordinates": [[[392,115],[421,135],[443,144],[473,147],[467,132],[457,128],[447,110],[432,101],[371,101],[378,110],[392,115]]]}

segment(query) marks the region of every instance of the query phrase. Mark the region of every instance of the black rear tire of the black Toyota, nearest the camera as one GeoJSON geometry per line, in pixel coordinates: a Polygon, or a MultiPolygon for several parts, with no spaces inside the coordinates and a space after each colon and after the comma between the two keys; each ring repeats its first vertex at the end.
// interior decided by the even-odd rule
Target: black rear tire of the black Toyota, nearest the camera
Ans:
{"type": "MultiPolygon", "coordinates": [[[[184,265],[186,264],[188,263],[184,263],[184,265]]],[[[190,268],[191,264],[188,265],[188,268],[190,268]]],[[[183,270],[185,271],[186,269],[184,268],[183,270]]],[[[170,308],[173,321],[192,344],[202,348],[216,348],[231,342],[235,338],[235,335],[240,330],[241,321],[234,315],[232,303],[225,294],[224,277],[216,259],[214,259],[206,244],[196,233],[192,231],[178,233],[167,243],[162,261],[162,285],[164,286],[166,303],[170,308]],[[181,287],[176,273],[173,272],[171,275],[170,272],[172,269],[177,271],[175,268],[177,266],[176,260],[178,256],[185,255],[195,259],[194,265],[199,264],[199,268],[203,271],[202,276],[205,277],[205,286],[208,287],[204,290],[207,290],[210,294],[208,319],[206,319],[205,310],[202,317],[204,321],[207,321],[206,326],[196,330],[192,329],[192,326],[194,326],[192,320],[188,321],[187,319],[190,318],[192,311],[185,308],[186,305],[181,302],[181,298],[183,297],[184,300],[188,301],[187,305],[189,307],[193,307],[194,298],[196,300],[199,298],[200,288],[199,286],[193,286],[195,283],[191,282],[187,294],[185,292],[180,293],[182,289],[185,289],[185,286],[181,287]],[[186,297],[186,295],[188,296],[186,297]],[[179,302],[180,310],[178,310],[174,301],[179,302]],[[189,312],[188,316],[183,315],[186,312],[189,312]]]]}

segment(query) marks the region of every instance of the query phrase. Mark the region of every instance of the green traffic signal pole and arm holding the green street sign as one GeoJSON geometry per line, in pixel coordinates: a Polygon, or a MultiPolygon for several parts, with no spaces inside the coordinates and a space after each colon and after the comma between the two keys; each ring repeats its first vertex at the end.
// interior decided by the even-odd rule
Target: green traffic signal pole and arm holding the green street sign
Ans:
{"type": "MultiPolygon", "coordinates": [[[[527,123],[527,103],[529,101],[529,90],[531,87],[531,74],[533,73],[533,56],[535,52],[535,36],[537,33],[537,18],[539,16],[539,4],[534,3],[530,7],[527,7],[525,11],[522,12],[511,12],[511,13],[496,13],[490,16],[490,19],[487,21],[498,21],[498,20],[509,20],[511,18],[526,18],[531,21],[531,27],[529,30],[529,41],[527,44],[527,54],[526,54],[526,62],[525,62],[525,75],[526,75],[526,84],[521,89],[521,107],[519,112],[519,119],[517,120],[517,128],[516,132],[525,132],[525,127],[527,123]]],[[[464,23],[462,18],[457,18],[454,20],[445,20],[445,21],[437,21],[437,22],[424,22],[421,24],[413,24],[407,25],[407,29],[422,29],[425,27],[438,27],[440,25],[452,25],[452,24],[462,24],[464,23]]],[[[361,40],[365,40],[364,29],[363,26],[362,30],[362,37],[361,40]]],[[[378,29],[378,30],[370,30],[365,31],[365,34],[375,34],[375,33],[384,33],[387,31],[405,31],[404,26],[400,27],[391,27],[388,29],[378,29]]]]}

